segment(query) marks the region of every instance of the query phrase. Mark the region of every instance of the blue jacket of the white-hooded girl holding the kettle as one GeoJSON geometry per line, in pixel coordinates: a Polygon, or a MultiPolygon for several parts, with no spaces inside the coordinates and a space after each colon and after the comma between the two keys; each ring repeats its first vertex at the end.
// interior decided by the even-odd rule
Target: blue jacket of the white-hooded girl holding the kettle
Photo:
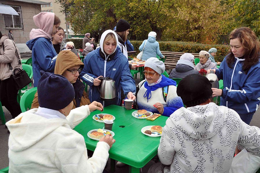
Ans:
{"type": "Polygon", "coordinates": [[[126,95],[128,92],[135,93],[135,81],[128,68],[129,63],[121,49],[116,47],[116,52],[112,60],[105,61],[100,56],[98,48],[88,53],[84,59],[84,68],[80,73],[80,78],[90,86],[89,99],[90,102],[97,101],[103,103],[100,98],[100,93],[97,89],[98,86],[94,86],[94,78],[99,76],[110,77],[115,81],[116,87],[116,99],[112,101],[105,101],[105,106],[111,104],[120,105],[121,100],[121,87],[126,95]]]}

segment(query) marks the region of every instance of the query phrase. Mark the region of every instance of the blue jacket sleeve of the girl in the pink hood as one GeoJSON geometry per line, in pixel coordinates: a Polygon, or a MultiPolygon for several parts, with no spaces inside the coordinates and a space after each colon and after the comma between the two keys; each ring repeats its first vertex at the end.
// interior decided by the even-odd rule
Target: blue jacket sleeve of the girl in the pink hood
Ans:
{"type": "MultiPolygon", "coordinates": [[[[44,69],[45,72],[53,72],[54,68],[55,68],[57,53],[55,53],[56,56],[53,57],[53,54],[52,54],[53,51],[52,51],[51,47],[48,46],[48,43],[46,43],[42,39],[38,39],[34,43],[33,51],[34,51],[34,55],[37,55],[36,59],[37,59],[38,64],[40,65],[40,67],[42,69],[44,69]]],[[[56,51],[54,51],[54,52],[56,52],[56,51]]]]}

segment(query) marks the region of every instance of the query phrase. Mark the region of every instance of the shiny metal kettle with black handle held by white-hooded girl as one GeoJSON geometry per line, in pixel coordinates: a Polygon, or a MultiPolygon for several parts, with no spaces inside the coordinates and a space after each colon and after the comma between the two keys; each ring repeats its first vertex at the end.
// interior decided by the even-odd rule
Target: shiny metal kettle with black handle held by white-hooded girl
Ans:
{"type": "Polygon", "coordinates": [[[99,80],[102,81],[99,89],[100,97],[102,100],[110,100],[116,97],[115,81],[109,77],[101,77],[99,80]]]}

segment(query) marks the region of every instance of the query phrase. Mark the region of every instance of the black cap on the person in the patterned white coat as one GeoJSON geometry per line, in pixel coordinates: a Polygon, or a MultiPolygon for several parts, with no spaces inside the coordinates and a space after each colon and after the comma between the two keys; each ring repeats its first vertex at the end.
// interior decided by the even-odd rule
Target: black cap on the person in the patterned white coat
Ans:
{"type": "Polygon", "coordinates": [[[212,97],[211,86],[205,76],[190,74],[179,82],[177,95],[187,107],[196,106],[212,97]]]}

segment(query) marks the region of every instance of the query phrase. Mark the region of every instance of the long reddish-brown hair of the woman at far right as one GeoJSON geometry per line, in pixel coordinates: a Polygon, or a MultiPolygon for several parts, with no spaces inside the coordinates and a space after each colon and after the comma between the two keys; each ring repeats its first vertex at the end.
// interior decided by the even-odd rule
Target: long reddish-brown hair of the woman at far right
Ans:
{"type": "MultiPolygon", "coordinates": [[[[255,32],[253,32],[248,27],[240,27],[234,29],[229,36],[229,40],[238,38],[241,42],[242,46],[246,49],[244,54],[244,64],[243,64],[243,70],[247,74],[248,70],[252,65],[255,65],[257,62],[259,62],[259,40],[257,36],[255,35],[255,32]]],[[[227,65],[229,68],[232,68],[233,63],[235,62],[235,56],[231,51],[231,48],[229,49],[229,55],[226,58],[227,65]]]]}

